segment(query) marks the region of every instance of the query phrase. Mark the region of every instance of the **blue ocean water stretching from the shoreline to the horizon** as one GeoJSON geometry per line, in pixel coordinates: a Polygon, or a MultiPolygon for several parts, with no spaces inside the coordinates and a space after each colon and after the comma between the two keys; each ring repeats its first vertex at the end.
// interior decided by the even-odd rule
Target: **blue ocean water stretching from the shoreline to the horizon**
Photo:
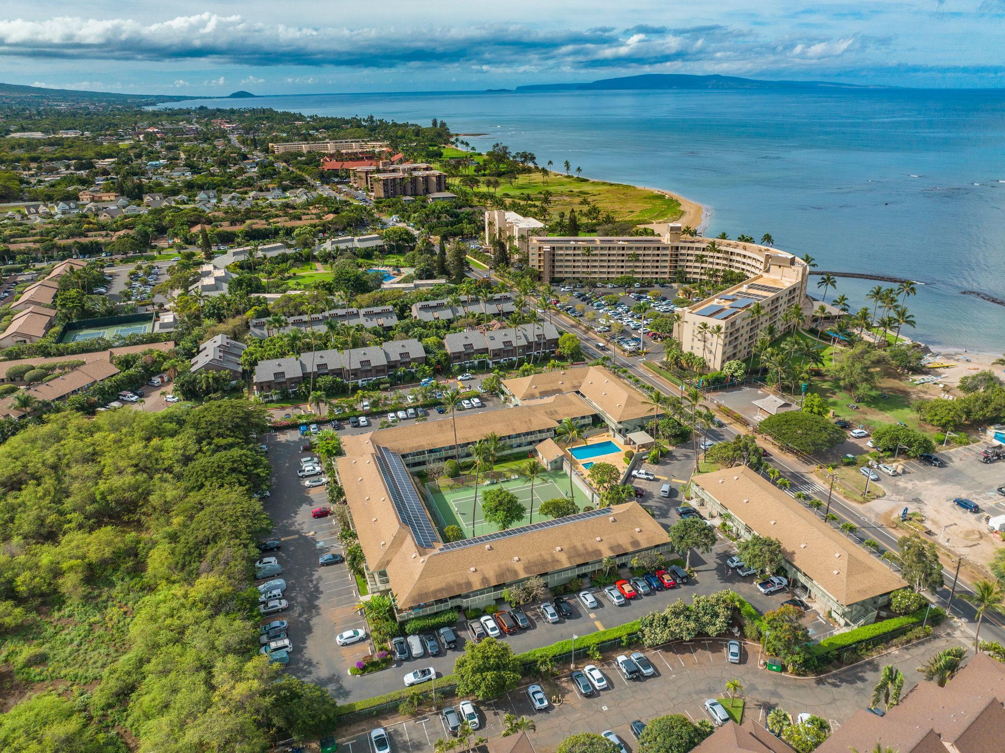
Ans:
{"type": "MultiPolygon", "coordinates": [[[[181,103],[232,107],[232,100],[181,103]]],[[[243,101],[241,106],[251,103],[243,101]]],[[[708,234],[760,238],[820,269],[925,283],[908,334],[947,351],[1005,351],[1005,91],[429,92],[266,97],[254,107],[445,120],[476,148],[673,191],[708,234]]],[[[811,286],[814,281],[811,279],[811,286]]],[[[870,280],[840,278],[855,309],[870,280]]],[[[813,291],[811,291],[812,293],[813,291]]],[[[831,292],[828,300],[835,295],[831,292]]]]}

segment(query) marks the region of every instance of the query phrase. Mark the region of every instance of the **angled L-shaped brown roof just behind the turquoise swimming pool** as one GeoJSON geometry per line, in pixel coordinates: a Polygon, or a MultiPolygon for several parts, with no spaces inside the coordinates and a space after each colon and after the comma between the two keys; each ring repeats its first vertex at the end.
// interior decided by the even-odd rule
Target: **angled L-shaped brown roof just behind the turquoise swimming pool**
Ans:
{"type": "Polygon", "coordinates": [[[507,379],[502,384],[521,402],[578,392],[587,402],[618,422],[652,414],[652,407],[645,404],[645,395],[603,366],[546,371],[534,376],[507,379]]]}

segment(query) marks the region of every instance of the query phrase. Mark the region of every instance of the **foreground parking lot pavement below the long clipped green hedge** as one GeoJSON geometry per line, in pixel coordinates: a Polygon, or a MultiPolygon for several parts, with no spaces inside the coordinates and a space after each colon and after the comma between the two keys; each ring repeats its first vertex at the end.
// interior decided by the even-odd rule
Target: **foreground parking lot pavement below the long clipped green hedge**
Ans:
{"type": "MultiPolygon", "coordinates": [[[[758,655],[745,651],[740,665],[729,664],[721,641],[695,640],[675,644],[666,649],[645,649],[643,653],[656,670],[653,677],[626,681],[612,667],[603,663],[600,669],[608,682],[608,690],[583,698],[572,687],[568,666],[559,668],[559,676],[543,682],[545,692],[560,703],[535,711],[527,696],[527,685],[489,702],[475,702],[480,728],[474,735],[492,739],[502,732],[506,714],[526,715],[537,730],[530,733],[538,749],[554,750],[565,738],[578,732],[612,730],[632,753],[638,744],[629,725],[633,720],[644,722],[664,714],[684,714],[690,719],[708,718],[703,703],[708,698],[726,698],[726,683],[738,679],[744,687],[745,719],[753,718],[765,724],[767,714],[780,707],[795,717],[801,712],[817,714],[829,720],[835,729],[855,711],[863,708],[872,686],[878,680],[881,667],[891,664],[907,677],[907,687],[916,685],[920,676],[916,668],[928,656],[959,641],[939,636],[924,643],[900,648],[872,662],[850,668],[837,677],[819,680],[788,678],[758,668],[758,655]]],[[[756,646],[755,646],[756,651],[756,646]]],[[[579,658],[576,666],[583,668],[579,658]]],[[[455,705],[450,699],[440,703],[455,705]]],[[[339,736],[340,749],[349,753],[372,753],[368,731],[383,724],[391,740],[392,753],[427,753],[438,738],[448,739],[449,733],[438,712],[427,712],[414,719],[397,715],[366,720],[348,727],[339,736]]]]}

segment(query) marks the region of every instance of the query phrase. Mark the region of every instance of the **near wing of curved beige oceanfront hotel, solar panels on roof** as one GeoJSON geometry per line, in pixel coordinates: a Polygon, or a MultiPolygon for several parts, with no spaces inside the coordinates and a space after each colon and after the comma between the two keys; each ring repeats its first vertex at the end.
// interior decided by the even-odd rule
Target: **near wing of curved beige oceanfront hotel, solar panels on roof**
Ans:
{"type": "Polygon", "coordinates": [[[712,370],[754,352],[769,325],[781,329],[783,316],[806,297],[807,266],[795,256],[772,255],[768,268],[681,312],[673,336],[684,351],[706,360],[712,370]]]}

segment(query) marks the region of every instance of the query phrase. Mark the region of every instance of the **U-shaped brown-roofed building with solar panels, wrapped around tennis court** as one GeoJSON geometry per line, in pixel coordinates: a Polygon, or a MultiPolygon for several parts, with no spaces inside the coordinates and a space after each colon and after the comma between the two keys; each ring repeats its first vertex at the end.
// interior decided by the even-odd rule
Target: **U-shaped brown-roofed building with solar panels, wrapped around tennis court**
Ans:
{"type": "MultiPolygon", "coordinates": [[[[611,375],[613,377],[613,374],[611,375]]],[[[616,377],[614,377],[616,379],[616,377]]],[[[553,445],[564,418],[588,427],[598,409],[575,391],[527,404],[346,436],[336,459],[371,593],[394,594],[400,619],[451,607],[481,607],[532,576],[549,587],[597,570],[605,557],[626,566],[643,552],[669,553],[666,532],[635,502],[456,542],[444,542],[432,500],[412,473],[470,455],[488,432],[505,452],[553,445]]],[[[585,484],[576,475],[578,484],[585,484]]],[[[589,490],[587,490],[589,491],[589,490]]]]}

